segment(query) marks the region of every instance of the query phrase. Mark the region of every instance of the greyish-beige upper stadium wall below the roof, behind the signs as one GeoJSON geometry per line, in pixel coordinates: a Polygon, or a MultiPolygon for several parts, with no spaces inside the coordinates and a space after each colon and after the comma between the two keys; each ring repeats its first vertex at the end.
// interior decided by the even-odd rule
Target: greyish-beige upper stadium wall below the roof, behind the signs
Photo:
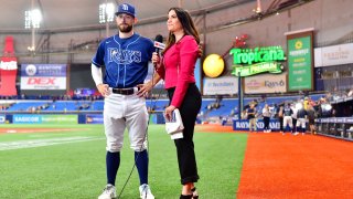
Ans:
{"type": "MultiPolygon", "coordinates": [[[[270,6],[271,1],[263,1],[263,10],[270,6]]],[[[313,28],[315,31],[314,46],[324,46],[342,43],[344,39],[352,38],[353,20],[351,1],[347,0],[314,0],[300,7],[286,10],[278,15],[259,18],[258,21],[236,25],[235,20],[255,14],[254,1],[221,10],[211,10],[207,13],[194,15],[201,39],[205,44],[205,54],[224,54],[234,42],[235,36],[248,34],[249,48],[255,45],[281,45],[286,46],[285,32],[313,28]]],[[[167,11],[165,11],[167,12],[167,11]]],[[[110,34],[116,33],[116,24],[110,24],[110,34]]],[[[167,35],[165,21],[157,21],[136,25],[136,32],[154,39],[157,34],[167,35]]],[[[65,32],[38,31],[38,40],[46,41],[39,49],[36,55],[28,52],[31,32],[0,32],[0,50],[3,49],[3,39],[13,35],[15,53],[19,63],[89,63],[97,43],[105,38],[105,27],[100,30],[67,29],[65,32]],[[45,49],[50,48],[50,49],[45,49]],[[51,53],[41,53],[51,52],[51,53]]],[[[231,59],[227,61],[232,66],[231,59]]]]}

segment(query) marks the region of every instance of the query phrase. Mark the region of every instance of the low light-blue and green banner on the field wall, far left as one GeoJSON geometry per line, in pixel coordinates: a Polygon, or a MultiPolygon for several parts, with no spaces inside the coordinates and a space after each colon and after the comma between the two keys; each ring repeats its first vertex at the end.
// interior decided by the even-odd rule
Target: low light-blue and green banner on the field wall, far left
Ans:
{"type": "Polygon", "coordinates": [[[13,124],[77,124],[77,115],[14,114],[13,124]]]}

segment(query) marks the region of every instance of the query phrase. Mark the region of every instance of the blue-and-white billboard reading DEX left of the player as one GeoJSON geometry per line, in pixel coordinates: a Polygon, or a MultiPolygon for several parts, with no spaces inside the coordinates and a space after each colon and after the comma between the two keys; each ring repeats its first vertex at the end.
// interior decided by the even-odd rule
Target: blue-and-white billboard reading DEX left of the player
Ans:
{"type": "Polygon", "coordinates": [[[22,64],[21,90],[66,90],[66,65],[22,64]]]}

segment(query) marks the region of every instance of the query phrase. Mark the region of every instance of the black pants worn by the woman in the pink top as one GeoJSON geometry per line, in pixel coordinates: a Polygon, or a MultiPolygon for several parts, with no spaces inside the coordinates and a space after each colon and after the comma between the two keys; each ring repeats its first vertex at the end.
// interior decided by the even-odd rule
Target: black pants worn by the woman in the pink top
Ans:
{"type": "MultiPolygon", "coordinates": [[[[173,98],[174,90],[175,88],[168,90],[170,101],[173,98]]],[[[196,85],[189,84],[184,100],[179,107],[184,125],[183,138],[174,139],[182,185],[196,182],[199,180],[194,143],[192,138],[194,135],[196,116],[201,108],[201,94],[196,85]]]]}

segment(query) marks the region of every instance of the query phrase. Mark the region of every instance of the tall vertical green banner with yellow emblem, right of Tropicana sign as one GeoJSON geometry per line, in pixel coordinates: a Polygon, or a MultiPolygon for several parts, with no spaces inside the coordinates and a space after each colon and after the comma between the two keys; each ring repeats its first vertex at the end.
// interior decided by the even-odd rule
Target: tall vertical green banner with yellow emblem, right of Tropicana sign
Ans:
{"type": "Polygon", "coordinates": [[[287,36],[288,91],[313,88],[312,31],[287,36]]]}

